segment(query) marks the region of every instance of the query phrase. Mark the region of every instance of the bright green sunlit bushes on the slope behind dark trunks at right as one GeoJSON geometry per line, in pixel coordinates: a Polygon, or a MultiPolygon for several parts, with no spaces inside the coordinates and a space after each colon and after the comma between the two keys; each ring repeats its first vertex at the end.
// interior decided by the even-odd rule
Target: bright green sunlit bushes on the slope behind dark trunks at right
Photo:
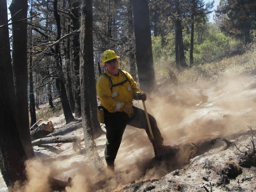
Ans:
{"type": "MultiPolygon", "coordinates": [[[[232,50],[241,44],[241,41],[221,32],[215,24],[206,23],[204,32],[202,27],[195,27],[194,65],[220,61],[232,55],[232,50]],[[199,34],[198,34],[199,33],[199,34]],[[200,36],[203,36],[202,38],[200,36]]],[[[153,36],[152,52],[156,76],[165,76],[166,66],[175,68],[175,34],[153,36]]],[[[186,61],[189,63],[190,34],[183,35],[186,61]]]]}

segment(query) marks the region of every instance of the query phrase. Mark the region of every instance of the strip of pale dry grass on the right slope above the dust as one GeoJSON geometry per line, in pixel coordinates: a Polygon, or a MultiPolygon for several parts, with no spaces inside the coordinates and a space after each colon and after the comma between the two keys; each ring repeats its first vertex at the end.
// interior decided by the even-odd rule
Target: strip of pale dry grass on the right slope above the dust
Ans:
{"type": "Polygon", "coordinates": [[[243,55],[236,55],[224,58],[218,62],[200,64],[190,69],[184,70],[177,78],[178,81],[215,81],[216,79],[234,76],[239,74],[256,73],[256,44],[251,44],[250,48],[243,55]]]}

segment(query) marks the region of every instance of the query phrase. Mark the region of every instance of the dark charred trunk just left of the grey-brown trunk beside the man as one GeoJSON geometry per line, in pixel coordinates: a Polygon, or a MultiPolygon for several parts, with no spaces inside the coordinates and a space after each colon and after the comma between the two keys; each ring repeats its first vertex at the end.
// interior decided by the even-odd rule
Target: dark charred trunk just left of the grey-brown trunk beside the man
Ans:
{"type": "MultiPolygon", "coordinates": [[[[78,0],[72,0],[71,4],[71,28],[73,31],[79,29],[79,9],[80,6],[78,0]]],[[[79,67],[80,67],[80,58],[79,58],[79,34],[73,36],[72,38],[72,68],[73,73],[73,95],[75,99],[75,116],[76,118],[81,117],[81,94],[80,94],[80,79],[79,79],[79,67]]]]}

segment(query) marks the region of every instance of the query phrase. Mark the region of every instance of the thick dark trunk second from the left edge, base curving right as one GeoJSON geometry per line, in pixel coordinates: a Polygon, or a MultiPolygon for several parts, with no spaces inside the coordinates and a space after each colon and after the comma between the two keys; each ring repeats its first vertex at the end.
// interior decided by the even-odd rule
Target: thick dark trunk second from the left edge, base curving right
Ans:
{"type": "MultiPolygon", "coordinates": [[[[9,9],[12,22],[24,19],[27,17],[28,2],[27,0],[12,0],[9,9]]],[[[13,23],[12,29],[12,69],[15,87],[15,107],[18,111],[18,130],[27,157],[33,157],[34,151],[29,132],[27,24],[25,22],[13,23]]]]}

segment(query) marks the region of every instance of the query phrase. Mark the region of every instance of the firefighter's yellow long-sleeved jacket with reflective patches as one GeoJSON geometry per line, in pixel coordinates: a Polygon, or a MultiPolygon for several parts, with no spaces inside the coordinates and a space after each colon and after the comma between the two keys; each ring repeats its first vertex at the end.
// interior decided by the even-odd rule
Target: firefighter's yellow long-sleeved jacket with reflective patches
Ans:
{"type": "MultiPolygon", "coordinates": [[[[100,76],[96,83],[96,91],[101,105],[111,113],[122,111],[125,104],[132,106],[134,94],[140,92],[132,76],[126,71],[123,72],[128,77],[130,83],[127,81],[122,85],[115,86],[112,88],[112,91],[111,83],[107,77],[100,76]]],[[[126,80],[120,71],[119,76],[111,75],[108,70],[105,73],[110,76],[113,84],[118,84],[126,80]]]]}

